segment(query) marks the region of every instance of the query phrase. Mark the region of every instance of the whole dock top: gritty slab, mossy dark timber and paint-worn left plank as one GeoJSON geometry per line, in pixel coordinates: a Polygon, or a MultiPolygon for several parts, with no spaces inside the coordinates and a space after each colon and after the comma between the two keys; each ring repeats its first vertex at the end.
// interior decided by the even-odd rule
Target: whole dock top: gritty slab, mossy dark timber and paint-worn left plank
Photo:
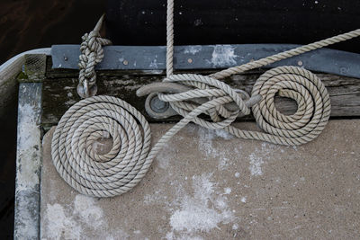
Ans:
{"type": "MultiPolygon", "coordinates": [[[[331,120],[309,144],[275,146],[190,124],[167,144],[132,191],[94,199],[70,188],[51,162],[52,128],[68,107],[79,101],[78,72],[51,67],[49,57],[27,56],[18,79],[15,237],[286,239],[360,235],[357,78],[318,74],[329,90],[331,120]]],[[[214,71],[192,70],[204,75],[214,71]]],[[[225,81],[250,92],[264,71],[225,81]]],[[[120,97],[148,118],[153,144],[179,119],[151,119],[144,109],[145,98],[135,97],[142,84],[161,81],[163,70],[97,73],[99,94],[120,97]]],[[[284,99],[275,103],[287,113],[296,108],[294,102],[284,99]]],[[[251,117],[241,120],[236,123],[239,128],[256,129],[251,117]]]]}

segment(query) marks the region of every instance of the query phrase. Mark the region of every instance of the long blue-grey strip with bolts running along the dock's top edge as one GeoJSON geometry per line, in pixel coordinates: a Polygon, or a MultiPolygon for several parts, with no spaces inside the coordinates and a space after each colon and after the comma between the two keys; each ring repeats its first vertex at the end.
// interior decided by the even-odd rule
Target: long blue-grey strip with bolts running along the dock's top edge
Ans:
{"type": "MultiPolygon", "coordinates": [[[[175,69],[220,69],[245,64],[294,49],[294,44],[241,44],[175,46],[175,69]]],[[[52,67],[78,69],[79,45],[54,45],[52,67]]],[[[165,70],[164,46],[107,46],[97,70],[165,70]]],[[[316,49],[267,67],[298,66],[308,70],[360,78],[360,54],[334,49],[316,49]]]]}

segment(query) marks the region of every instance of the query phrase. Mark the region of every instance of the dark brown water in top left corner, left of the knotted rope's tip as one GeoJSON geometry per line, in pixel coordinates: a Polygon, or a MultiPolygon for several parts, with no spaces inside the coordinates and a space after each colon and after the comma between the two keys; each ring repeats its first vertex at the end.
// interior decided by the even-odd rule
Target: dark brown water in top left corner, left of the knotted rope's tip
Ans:
{"type": "Polygon", "coordinates": [[[29,49],[79,43],[105,12],[100,0],[0,0],[0,64],[29,49]]]}

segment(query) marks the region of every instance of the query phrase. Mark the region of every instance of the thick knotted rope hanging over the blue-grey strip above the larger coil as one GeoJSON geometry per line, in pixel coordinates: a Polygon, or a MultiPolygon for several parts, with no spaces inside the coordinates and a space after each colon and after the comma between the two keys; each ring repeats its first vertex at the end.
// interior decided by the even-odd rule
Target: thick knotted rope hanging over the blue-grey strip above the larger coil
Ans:
{"type": "Polygon", "coordinates": [[[97,22],[93,31],[85,33],[81,38],[83,41],[80,45],[81,55],[79,57],[78,67],[79,82],[85,86],[85,95],[88,96],[88,91],[96,83],[95,66],[103,60],[102,46],[111,45],[111,40],[101,38],[100,29],[103,24],[103,16],[97,22]]]}

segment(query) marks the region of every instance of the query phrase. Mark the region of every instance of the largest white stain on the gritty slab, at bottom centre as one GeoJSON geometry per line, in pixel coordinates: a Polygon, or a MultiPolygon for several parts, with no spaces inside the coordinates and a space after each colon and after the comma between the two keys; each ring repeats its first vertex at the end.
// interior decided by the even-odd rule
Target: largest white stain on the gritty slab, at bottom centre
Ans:
{"type": "Polygon", "coordinates": [[[198,232],[209,232],[218,225],[229,224],[235,219],[228,207],[227,198],[221,198],[217,187],[211,181],[211,173],[193,176],[193,195],[185,194],[180,208],[170,217],[173,232],[166,234],[167,239],[200,239],[198,232]],[[176,237],[175,237],[176,236],[176,237]]]}

